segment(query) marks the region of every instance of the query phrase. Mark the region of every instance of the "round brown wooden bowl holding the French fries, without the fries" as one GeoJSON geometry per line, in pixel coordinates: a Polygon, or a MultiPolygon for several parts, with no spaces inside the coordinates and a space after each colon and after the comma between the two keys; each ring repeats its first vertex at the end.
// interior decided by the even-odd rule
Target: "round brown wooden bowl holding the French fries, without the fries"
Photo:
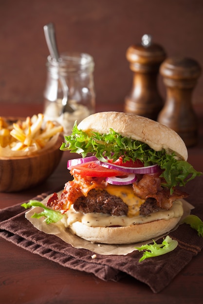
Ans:
{"type": "Polygon", "coordinates": [[[45,181],[58,166],[64,141],[59,135],[51,148],[22,157],[0,157],[0,192],[16,192],[45,181]]]}

